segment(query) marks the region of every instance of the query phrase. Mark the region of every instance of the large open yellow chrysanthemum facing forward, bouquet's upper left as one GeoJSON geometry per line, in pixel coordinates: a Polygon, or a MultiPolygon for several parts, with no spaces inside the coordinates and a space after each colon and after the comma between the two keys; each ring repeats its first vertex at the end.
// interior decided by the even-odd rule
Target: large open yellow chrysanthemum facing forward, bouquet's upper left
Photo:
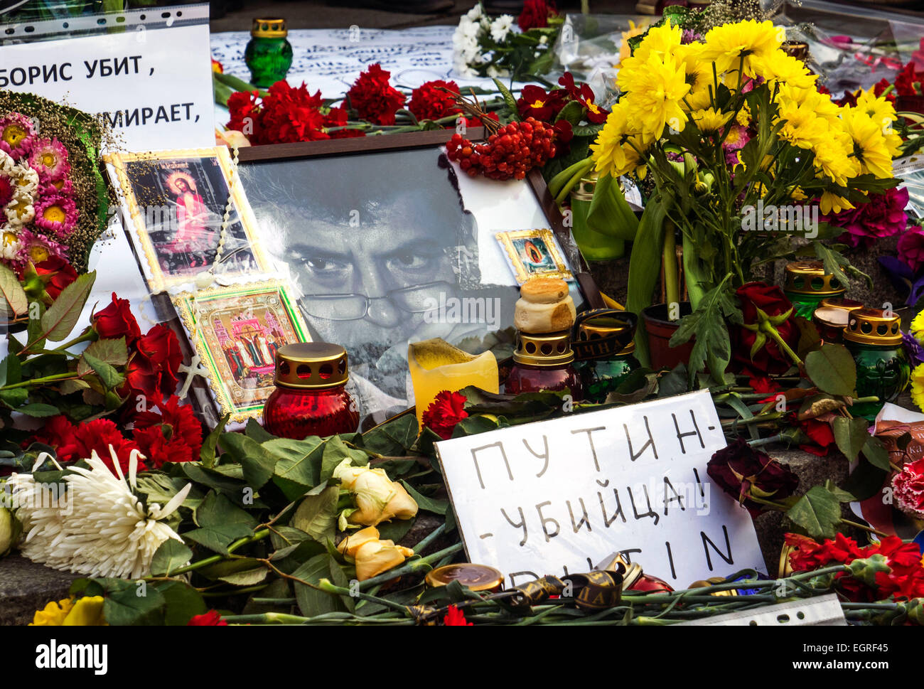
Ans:
{"type": "Polygon", "coordinates": [[[690,87],[674,57],[649,55],[644,68],[620,69],[618,79],[627,92],[620,103],[626,103],[629,127],[651,139],[661,137],[665,124],[678,131],[684,128],[687,113],[681,101],[690,87]]]}

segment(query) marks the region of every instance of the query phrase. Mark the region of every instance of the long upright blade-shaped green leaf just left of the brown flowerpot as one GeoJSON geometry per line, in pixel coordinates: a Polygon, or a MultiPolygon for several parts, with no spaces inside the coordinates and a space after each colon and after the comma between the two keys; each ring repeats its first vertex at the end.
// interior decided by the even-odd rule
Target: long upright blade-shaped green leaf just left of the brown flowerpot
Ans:
{"type": "MultiPolygon", "coordinates": [[[[632,253],[629,256],[626,298],[626,311],[633,314],[641,314],[642,309],[651,305],[654,286],[661,275],[665,217],[663,203],[652,199],[645,205],[645,212],[638,223],[636,240],[632,244],[632,253]]],[[[640,318],[635,341],[636,358],[643,366],[649,365],[648,336],[644,321],[640,318]]]]}

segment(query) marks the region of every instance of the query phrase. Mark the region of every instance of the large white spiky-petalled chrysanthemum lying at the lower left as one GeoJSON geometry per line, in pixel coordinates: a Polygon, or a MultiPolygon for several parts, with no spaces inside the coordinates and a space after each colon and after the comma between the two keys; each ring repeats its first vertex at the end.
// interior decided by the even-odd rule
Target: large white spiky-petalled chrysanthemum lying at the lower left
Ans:
{"type": "MultiPolygon", "coordinates": [[[[25,537],[22,554],[55,570],[88,576],[138,579],[151,573],[151,560],[168,538],[183,539],[161,522],[176,511],[192,487],[188,484],[162,509],[144,508],[134,494],[140,452],[132,450],[128,479],[116,451],[109,447],[117,476],[94,451],[90,469],[71,467],[65,476],[67,492],[36,483],[31,474],[13,474],[9,484],[18,505],[17,517],[25,537]]],[[[42,460],[40,459],[40,462],[42,460]]]]}

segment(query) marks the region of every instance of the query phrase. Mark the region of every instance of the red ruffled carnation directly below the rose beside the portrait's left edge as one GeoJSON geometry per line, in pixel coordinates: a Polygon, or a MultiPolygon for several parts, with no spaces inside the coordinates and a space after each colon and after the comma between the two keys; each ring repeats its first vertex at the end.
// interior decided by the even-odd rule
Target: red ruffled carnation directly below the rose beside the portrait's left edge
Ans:
{"type": "Polygon", "coordinates": [[[157,405],[161,413],[141,412],[135,417],[135,442],[141,453],[160,468],[165,461],[198,461],[202,426],[188,404],[176,395],[157,405]]]}

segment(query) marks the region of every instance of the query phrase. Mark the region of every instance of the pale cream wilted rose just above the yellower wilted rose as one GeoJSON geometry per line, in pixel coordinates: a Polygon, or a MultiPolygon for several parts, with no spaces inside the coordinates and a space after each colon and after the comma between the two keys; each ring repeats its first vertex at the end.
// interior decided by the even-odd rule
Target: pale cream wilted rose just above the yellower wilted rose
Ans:
{"type": "Polygon", "coordinates": [[[340,486],[356,500],[357,509],[348,517],[350,523],[375,526],[417,514],[417,502],[407,495],[404,486],[388,478],[384,469],[351,466],[349,460],[344,460],[334,469],[334,478],[340,479],[340,486]]]}

